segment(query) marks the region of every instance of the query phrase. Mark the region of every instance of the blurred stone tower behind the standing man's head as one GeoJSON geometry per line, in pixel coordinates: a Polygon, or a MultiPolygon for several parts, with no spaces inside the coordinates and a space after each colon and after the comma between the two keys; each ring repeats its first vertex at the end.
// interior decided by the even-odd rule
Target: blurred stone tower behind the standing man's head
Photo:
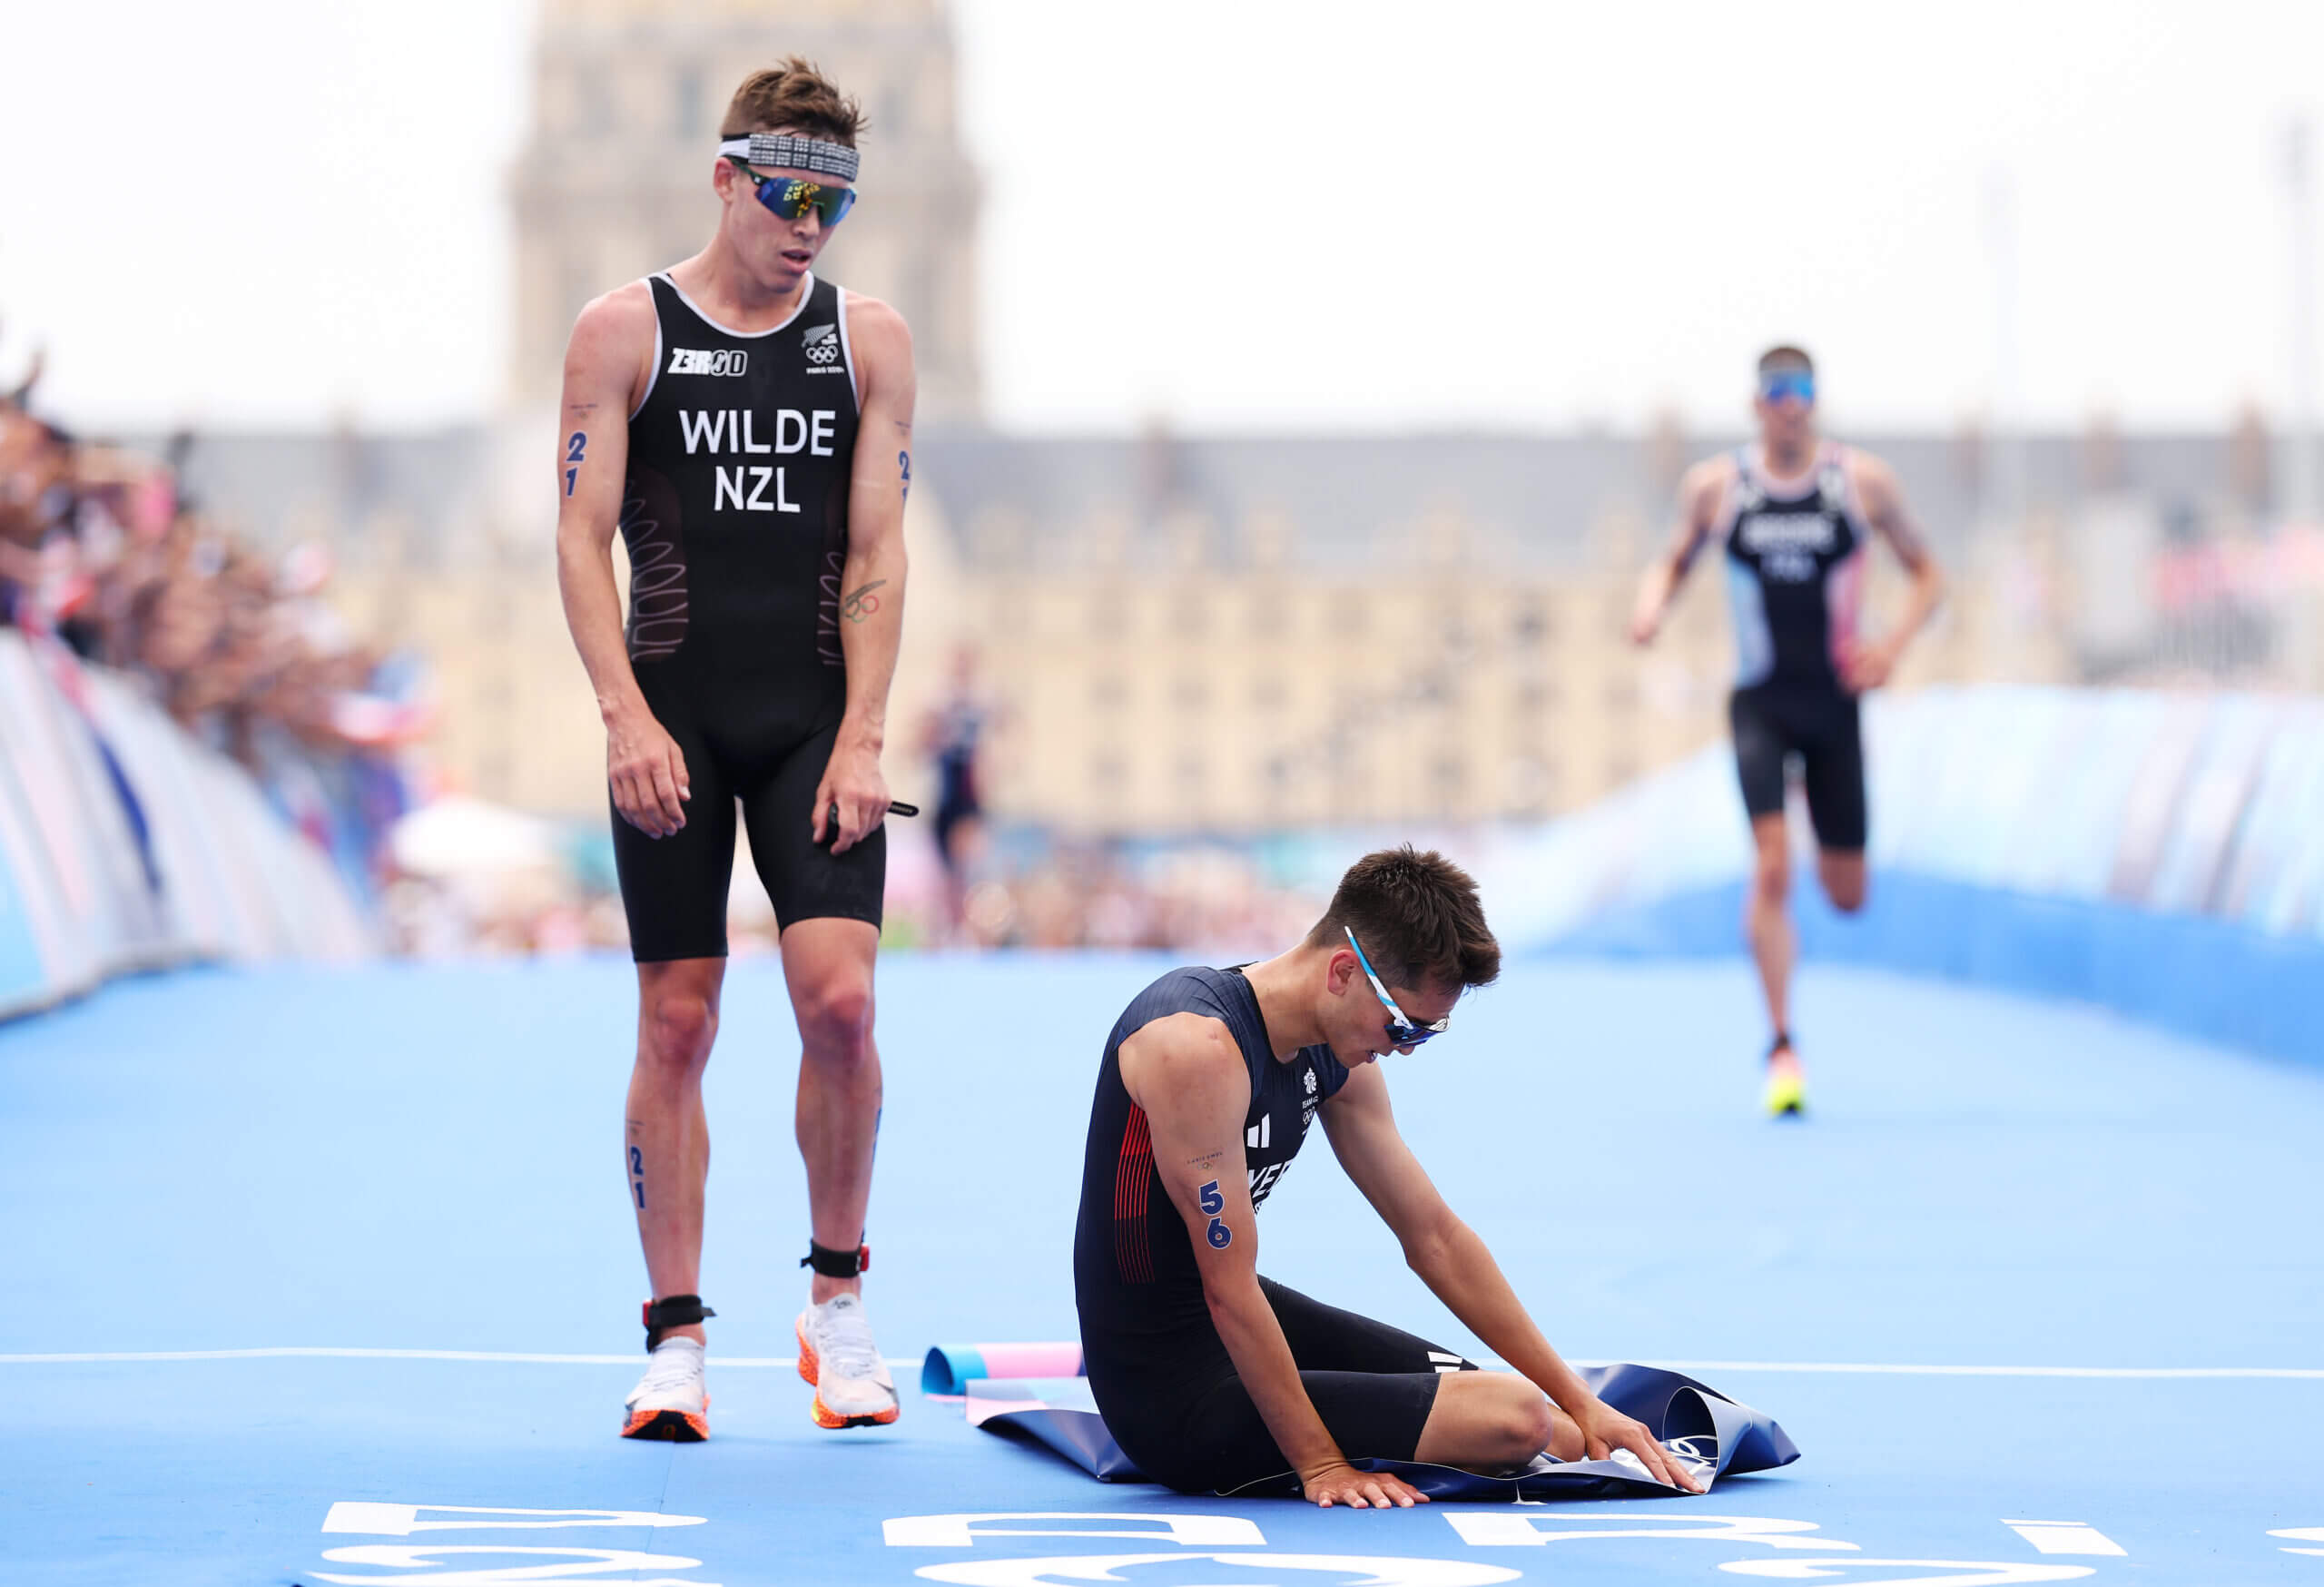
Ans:
{"type": "Polygon", "coordinates": [[[981,195],[939,0],[546,0],[532,135],[509,172],[518,407],[555,402],[581,304],[709,239],[718,119],[783,56],[813,60],[869,119],[865,198],[820,272],[904,314],[923,421],[981,416],[981,195]]]}

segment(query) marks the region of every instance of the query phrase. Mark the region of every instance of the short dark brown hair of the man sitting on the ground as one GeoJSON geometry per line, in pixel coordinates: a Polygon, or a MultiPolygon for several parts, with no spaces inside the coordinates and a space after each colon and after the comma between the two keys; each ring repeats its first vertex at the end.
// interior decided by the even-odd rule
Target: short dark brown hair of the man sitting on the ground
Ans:
{"type": "Polygon", "coordinates": [[[1404,843],[1350,864],[1306,946],[1336,948],[1350,929],[1387,985],[1473,988],[1501,974],[1476,881],[1434,848],[1404,843]]]}

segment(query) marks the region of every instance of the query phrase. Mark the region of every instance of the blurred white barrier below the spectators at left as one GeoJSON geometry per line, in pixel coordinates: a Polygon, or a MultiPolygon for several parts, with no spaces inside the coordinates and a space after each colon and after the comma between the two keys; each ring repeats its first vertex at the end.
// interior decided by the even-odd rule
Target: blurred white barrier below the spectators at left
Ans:
{"type": "Polygon", "coordinates": [[[0,630],[0,1015],[163,964],[374,950],[242,767],[123,678],[0,630]]]}

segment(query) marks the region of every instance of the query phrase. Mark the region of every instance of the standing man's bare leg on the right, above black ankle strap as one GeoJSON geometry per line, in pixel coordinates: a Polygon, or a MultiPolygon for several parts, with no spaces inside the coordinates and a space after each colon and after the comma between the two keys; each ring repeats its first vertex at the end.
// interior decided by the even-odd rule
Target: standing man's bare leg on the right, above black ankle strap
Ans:
{"type": "MultiPolygon", "coordinates": [[[[799,1157],[816,1245],[855,1250],[871,1204],[881,1073],[871,1041],[878,927],[799,920],[783,932],[783,981],[799,1020],[799,1157]]],[[[813,1276],[813,1304],[862,1292],[860,1278],[813,1276]]]]}

